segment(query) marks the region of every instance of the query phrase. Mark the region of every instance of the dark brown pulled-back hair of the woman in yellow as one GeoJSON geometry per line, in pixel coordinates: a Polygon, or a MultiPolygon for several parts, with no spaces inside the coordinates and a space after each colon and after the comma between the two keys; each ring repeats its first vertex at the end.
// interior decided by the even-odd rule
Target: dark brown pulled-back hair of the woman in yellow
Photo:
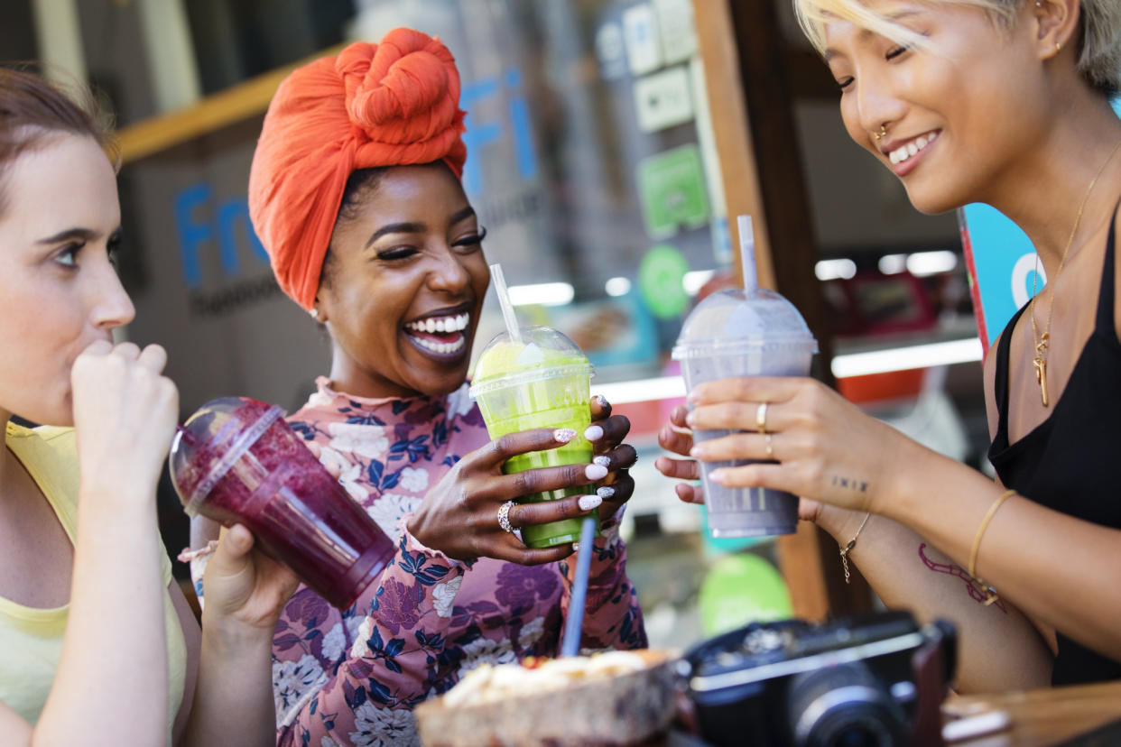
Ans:
{"type": "Polygon", "coordinates": [[[35,72],[37,63],[0,64],[0,213],[6,205],[3,176],[25,151],[52,136],[86,136],[115,162],[110,119],[93,93],[73,82],[64,91],[35,72]]]}

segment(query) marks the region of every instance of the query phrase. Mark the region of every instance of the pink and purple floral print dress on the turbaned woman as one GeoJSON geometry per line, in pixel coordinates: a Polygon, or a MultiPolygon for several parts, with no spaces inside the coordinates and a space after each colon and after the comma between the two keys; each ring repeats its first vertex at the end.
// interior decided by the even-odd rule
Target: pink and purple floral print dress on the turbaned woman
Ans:
{"type": "MultiPolygon", "coordinates": [[[[575,562],[460,562],[409,534],[429,487],[489,440],[466,384],[407,400],[348,396],[323,377],[317,386],[289,423],[398,550],[350,609],[304,586],[289,600],[272,642],[277,744],[418,744],[413,708],[469,670],[557,654],[575,562]]],[[[617,517],[603,522],[595,550],[581,647],[645,647],[617,517]]]]}

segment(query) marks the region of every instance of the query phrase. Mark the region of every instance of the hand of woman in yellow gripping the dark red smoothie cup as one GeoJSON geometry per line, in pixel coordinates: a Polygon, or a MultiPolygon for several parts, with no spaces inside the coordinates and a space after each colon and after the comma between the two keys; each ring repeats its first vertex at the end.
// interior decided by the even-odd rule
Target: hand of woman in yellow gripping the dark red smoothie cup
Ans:
{"type": "Polygon", "coordinates": [[[249,631],[266,631],[271,638],[285,603],[299,586],[296,576],[254,548],[254,538],[241,524],[223,529],[203,586],[209,618],[249,631]]]}

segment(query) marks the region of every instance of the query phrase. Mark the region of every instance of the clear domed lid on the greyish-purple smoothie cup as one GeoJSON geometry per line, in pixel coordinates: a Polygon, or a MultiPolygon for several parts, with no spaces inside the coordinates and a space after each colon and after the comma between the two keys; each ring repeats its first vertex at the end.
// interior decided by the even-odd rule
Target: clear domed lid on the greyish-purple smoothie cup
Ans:
{"type": "Polygon", "coordinates": [[[729,288],[693,309],[674,346],[676,361],[762,351],[817,352],[817,340],[790,301],[766,288],[729,288]]]}

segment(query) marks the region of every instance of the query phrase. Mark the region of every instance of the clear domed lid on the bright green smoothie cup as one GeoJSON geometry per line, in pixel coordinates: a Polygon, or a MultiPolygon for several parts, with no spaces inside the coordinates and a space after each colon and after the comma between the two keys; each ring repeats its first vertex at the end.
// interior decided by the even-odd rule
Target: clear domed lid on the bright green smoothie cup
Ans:
{"type": "Polygon", "coordinates": [[[475,363],[471,396],[546,379],[592,375],[592,364],[576,343],[552,327],[519,327],[521,342],[501,332],[487,343],[475,363]]]}

